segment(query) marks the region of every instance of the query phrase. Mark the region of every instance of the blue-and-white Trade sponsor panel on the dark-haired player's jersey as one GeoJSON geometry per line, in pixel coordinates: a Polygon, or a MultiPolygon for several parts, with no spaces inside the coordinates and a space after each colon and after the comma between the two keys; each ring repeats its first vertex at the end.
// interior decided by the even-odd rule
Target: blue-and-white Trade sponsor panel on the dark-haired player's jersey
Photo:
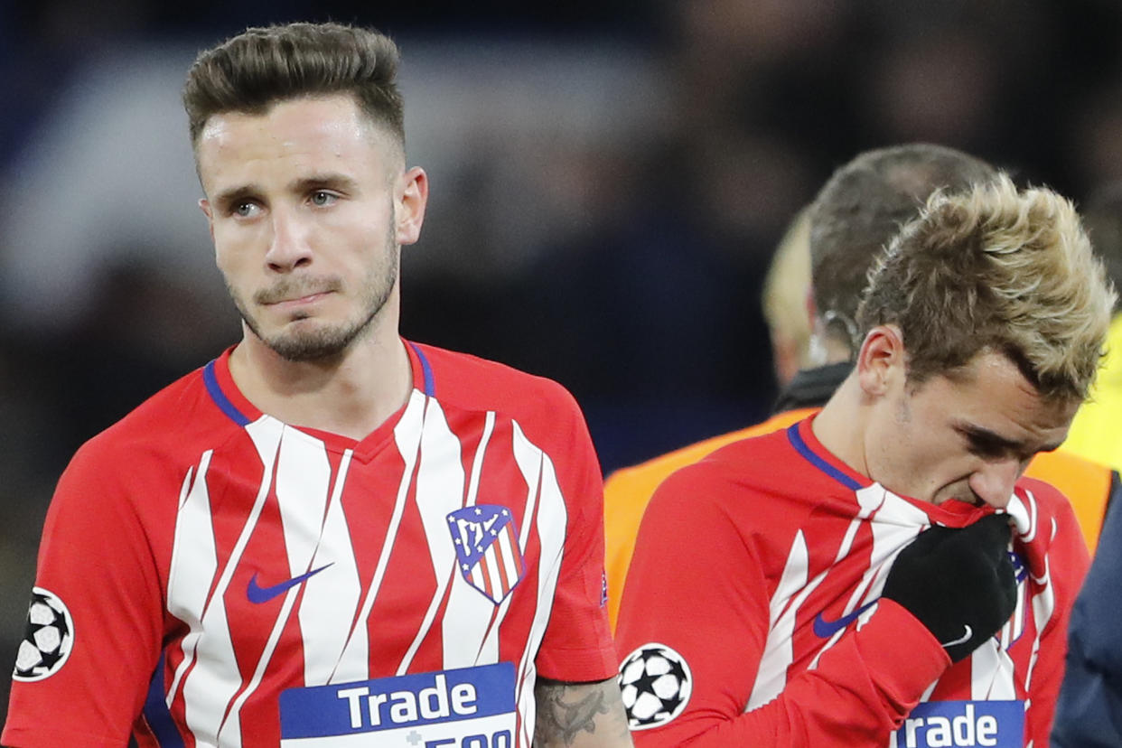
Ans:
{"type": "Polygon", "coordinates": [[[280,693],[282,748],[513,748],[514,664],[280,693]]]}

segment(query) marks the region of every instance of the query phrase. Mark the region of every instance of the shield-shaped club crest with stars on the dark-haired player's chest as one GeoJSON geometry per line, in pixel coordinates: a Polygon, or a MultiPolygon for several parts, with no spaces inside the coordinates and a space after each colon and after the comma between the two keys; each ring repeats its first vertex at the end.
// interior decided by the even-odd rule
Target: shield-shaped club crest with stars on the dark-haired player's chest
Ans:
{"type": "Polygon", "coordinates": [[[497,504],[477,504],[448,515],[460,575],[496,606],[525,573],[518,528],[511,510],[497,504]]]}

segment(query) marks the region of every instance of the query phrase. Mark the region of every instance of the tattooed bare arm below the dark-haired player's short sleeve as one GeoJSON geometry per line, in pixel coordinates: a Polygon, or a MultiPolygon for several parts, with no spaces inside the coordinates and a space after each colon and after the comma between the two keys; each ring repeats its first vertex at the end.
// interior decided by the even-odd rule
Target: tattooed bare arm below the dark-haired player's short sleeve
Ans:
{"type": "Polygon", "coordinates": [[[535,748],[578,742],[601,745],[601,741],[605,746],[631,745],[615,678],[599,683],[542,680],[534,692],[537,699],[535,748]],[[594,738],[597,732],[599,735],[594,738]]]}

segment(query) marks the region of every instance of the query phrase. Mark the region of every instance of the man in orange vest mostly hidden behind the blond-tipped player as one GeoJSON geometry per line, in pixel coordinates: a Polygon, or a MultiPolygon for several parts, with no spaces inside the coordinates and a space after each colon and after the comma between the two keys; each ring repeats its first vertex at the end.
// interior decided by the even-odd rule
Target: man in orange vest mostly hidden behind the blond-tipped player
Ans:
{"type": "MultiPolygon", "coordinates": [[[[838,168],[822,186],[812,209],[800,214],[808,216],[815,230],[803,231],[800,228],[803,219],[797,219],[778,250],[789,255],[793,253],[793,242],[809,243],[813,266],[808,313],[813,335],[809,358],[816,366],[801,369],[788,382],[781,380],[785,386],[775,403],[774,415],[767,421],[623,468],[604,483],[608,615],[613,630],[640,520],[659,484],[679,468],[705,459],[718,447],[783,428],[825,405],[853,368],[855,344],[861,342],[853,340],[853,320],[865,275],[880,249],[901,224],[916,216],[936,190],[965,188],[995,174],[988,164],[953,148],[908,144],[864,151],[838,168]]],[[[806,308],[806,290],[795,293],[797,304],[806,308]]],[[[792,325],[778,314],[789,310],[790,302],[781,306],[774,298],[778,290],[767,294],[765,286],[765,317],[772,329],[776,358],[797,359],[799,354],[789,350],[792,336],[784,332],[792,325]]],[[[1120,492],[1118,473],[1075,454],[1056,451],[1038,454],[1026,474],[1051,483],[1072,501],[1084,541],[1093,552],[1107,500],[1120,492]]]]}

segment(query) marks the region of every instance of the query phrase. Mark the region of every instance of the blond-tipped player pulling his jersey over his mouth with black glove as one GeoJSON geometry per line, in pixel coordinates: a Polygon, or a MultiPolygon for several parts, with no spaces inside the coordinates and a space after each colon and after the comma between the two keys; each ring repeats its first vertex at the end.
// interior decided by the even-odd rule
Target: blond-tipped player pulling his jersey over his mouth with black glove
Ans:
{"type": "Polygon", "coordinates": [[[937,193],[816,416],[672,474],[619,615],[638,746],[1047,745],[1088,563],[1057,446],[1114,294],[1072,204],[937,193]]]}

